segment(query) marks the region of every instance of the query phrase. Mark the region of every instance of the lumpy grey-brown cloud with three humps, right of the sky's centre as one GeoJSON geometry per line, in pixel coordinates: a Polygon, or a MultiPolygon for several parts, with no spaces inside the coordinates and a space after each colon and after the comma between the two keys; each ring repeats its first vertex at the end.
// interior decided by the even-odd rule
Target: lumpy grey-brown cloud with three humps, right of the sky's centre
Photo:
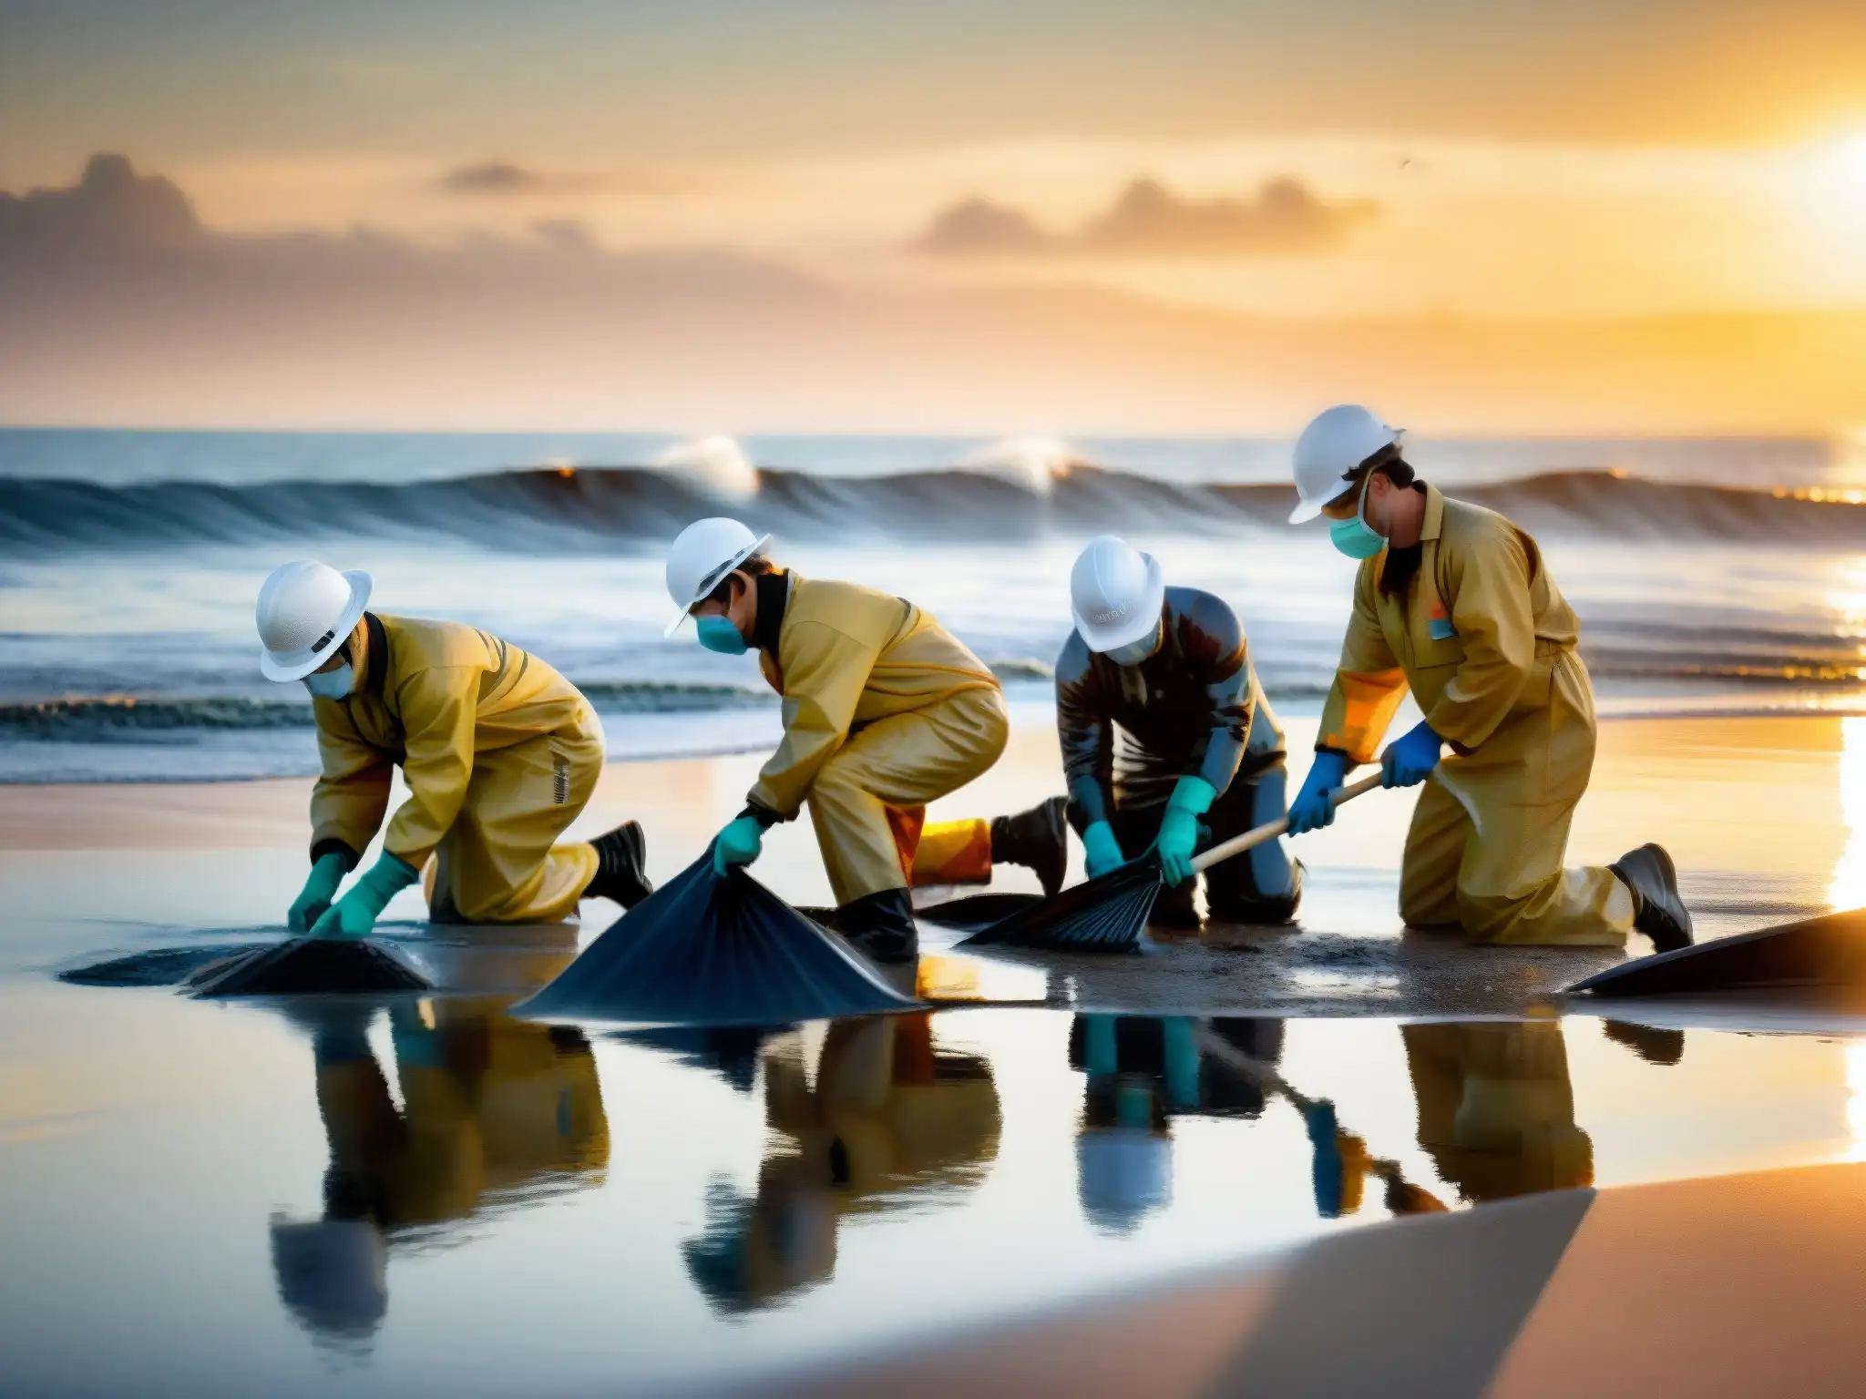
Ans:
{"type": "Polygon", "coordinates": [[[1049,233],[1026,213],[967,200],[937,215],[914,242],[940,257],[1256,257],[1336,246],[1379,213],[1370,200],[1330,201],[1284,175],[1254,196],[1187,200],[1136,179],[1073,233],[1049,233]]]}

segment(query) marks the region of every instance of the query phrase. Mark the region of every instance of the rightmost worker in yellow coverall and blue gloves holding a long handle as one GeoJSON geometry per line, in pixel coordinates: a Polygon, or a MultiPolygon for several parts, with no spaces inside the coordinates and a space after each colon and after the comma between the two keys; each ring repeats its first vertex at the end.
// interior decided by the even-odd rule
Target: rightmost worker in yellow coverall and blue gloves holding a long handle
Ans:
{"type": "Polygon", "coordinates": [[[1426,718],[1381,755],[1385,785],[1426,785],[1400,875],[1409,925],[1567,946],[1618,946],[1636,927],[1661,951],[1687,946],[1691,912],[1661,847],[1562,867],[1594,769],[1581,625],[1536,541],[1416,481],[1400,438],[1345,405],[1297,442],[1291,520],[1327,515],[1360,573],[1316,761],[1289,804],[1291,834],[1334,819],[1334,791],[1373,761],[1411,690],[1426,718]]]}

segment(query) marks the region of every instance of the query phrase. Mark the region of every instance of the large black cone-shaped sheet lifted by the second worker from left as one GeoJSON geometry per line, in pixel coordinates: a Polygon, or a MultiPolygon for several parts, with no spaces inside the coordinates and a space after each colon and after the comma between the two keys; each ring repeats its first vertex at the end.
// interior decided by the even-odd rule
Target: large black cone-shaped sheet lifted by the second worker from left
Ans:
{"type": "Polygon", "coordinates": [[[709,849],[513,1013],[773,1026],[918,1005],[743,869],[715,875],[709,849]]]}

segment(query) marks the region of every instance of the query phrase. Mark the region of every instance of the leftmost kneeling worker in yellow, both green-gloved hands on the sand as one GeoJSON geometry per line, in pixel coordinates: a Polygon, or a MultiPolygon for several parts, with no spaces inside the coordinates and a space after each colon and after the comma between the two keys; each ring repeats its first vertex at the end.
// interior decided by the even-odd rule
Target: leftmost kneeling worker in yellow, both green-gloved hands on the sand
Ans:
{"type": "Polygon", "coordinates": [[[282,563],[259,589],[259,670],[313,696],[323,774],[312,791],[312,875],[293,931],[362,938],[422,877],[446,923],[554,923],[578,899],[648,897],[642,828],[556,845],[603,770],[603,727],[537,657],[453,621],[366,612],[368,573],[282,563]],[[388,811],[383,856],[332,903],[388,811]]]}

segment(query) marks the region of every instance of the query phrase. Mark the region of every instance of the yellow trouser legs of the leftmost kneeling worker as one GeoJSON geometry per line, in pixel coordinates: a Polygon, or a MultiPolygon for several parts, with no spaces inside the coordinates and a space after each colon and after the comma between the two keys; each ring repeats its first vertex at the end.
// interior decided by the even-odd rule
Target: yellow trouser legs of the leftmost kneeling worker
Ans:
{"type": "Polygon", "coordinates": [[[603,772],[603,726],[588,711],[558,733],[474,754],[459,815],[425,871],[437,923],[556,923],[595,879],[588,841],[558,845],[603,772]]]}

